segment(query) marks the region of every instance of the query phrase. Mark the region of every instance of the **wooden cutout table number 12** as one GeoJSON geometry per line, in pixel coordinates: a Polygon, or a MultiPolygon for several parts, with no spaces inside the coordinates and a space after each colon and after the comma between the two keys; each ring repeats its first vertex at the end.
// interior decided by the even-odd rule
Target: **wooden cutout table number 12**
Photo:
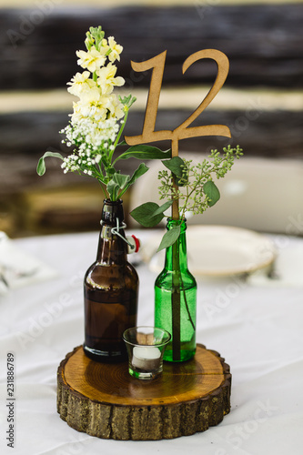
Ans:
{"type": "Polygon", "coordinates": [[[187,57],[187,60],[182,66],[182,73],[184,74],[187,71],[189,66],[201,60],[203,58],[210,58],[215,60],[217,63],[217,77],[214,85],[210,88],[207,96],[197,107],[187,120],[185,120],[181,125],[177,126],[173,131],[170,130],[161,130],[155,131],[156,118],[157,118],[157,108],[159,103],[159,97],[162,86],[162,79],[164,73],[164,67],[166,62],[167,51],[146,60],[145,62],[137,63],[131,62],[131,66],[136,72],[143,72],[148,69],[153,69],[148,98],[146,103],[146,116],[144,120],[144,126],[142,130],[142,135],[140,136],[126,136],[125,140],[129,146],[136,146],[139,144],[146,144],[149,142],[157,142],[159,140],[171,140],[172,148],[172,157],[177,157],[178,155],[178,141],[180,139],[185,139],[187,137],[197,137],[197,136],[227,136],[231,137],[230,129],[225,125],[205,125],[205,126],[190,126],[197,116],[199,116],[204,109],[211,103],[211,101],[217,96],[220,88],[224,85],[228,69],[229,62],[228,58],[223,52],[220,52],[216,49],[204,49],[192,54],[187,57]]]}

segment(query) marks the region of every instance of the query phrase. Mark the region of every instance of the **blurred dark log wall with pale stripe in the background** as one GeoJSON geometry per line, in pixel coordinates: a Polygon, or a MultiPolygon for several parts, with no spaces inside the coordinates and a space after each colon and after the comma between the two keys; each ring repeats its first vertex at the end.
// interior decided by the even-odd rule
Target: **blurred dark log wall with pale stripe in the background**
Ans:
{"type": "MultiPolygon", "coordinates": [[[[196,125],[227,125],[232,140],[187,139],[180,150],[205,152],[232,143],[247,156],[302,159],[302,24],[300,4],[57,5],[47,14],[37,5],[0,9],[0,229],[23,236],[98,228],[102,194],[96,182],[64,175],[54,159],[45,177],[35,174],[47,148],[65,151],[58,131],[72,111],[66,82],[79,70],[75,52],[84,49],[90,26],[102,25],[124,46],[119,75],[126,79],[126,93],[138,95],[127,136],[141,132],[150,80],[150,72],[136,74],[130,60],[167,49],[157,128],[174,129],[195,110],[217,73],[215,63],[205,60],[182,76],[184,60],[216,48],[230,61],[227,82],[196,125]]],[[[133,163],[124,166],[122,171],[130,170],[133,163]]]]}

